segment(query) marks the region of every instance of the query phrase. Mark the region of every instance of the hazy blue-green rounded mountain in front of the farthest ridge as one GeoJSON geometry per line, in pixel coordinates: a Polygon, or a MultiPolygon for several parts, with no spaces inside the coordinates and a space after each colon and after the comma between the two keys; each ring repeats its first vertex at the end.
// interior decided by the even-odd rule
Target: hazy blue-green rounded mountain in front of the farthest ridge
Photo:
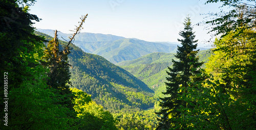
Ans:
{"type": "Polygon", "coordinates": [[[108,59],[112,63],[118,63],[134,60],[151,53],[173,52],[176,48],[177,45],[167,46],[139,39],[120,39],[106,43],[105,46],[100,47],[94,53],[108,59]]]}

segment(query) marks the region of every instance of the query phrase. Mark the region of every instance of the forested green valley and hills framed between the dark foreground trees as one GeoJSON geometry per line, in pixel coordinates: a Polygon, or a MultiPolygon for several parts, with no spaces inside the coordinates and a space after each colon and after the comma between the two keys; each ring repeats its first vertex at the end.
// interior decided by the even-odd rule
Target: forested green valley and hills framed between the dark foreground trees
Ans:
{"type": "MultiPolygon", "coordinates": [[[[50,32],[52,31],[50,30],[49,33],[50,32]]],[[[47,40],[52,39],[51,36],[43,33],[36,32],[36,34],[45,36],[47,40]]],[[[94,38],[87,39],[97,39],[97,34],[90,35],[94,38]]],[[[59,36],[63,37],[65,35],[59,33],[59,36]]],[[[111,38],[108,38],[109,36],[110,35],[101,35],[101,38],[98,36],[98,39],[121,38],[112,35],[111,38]]],[[[80,37],[80,39],[82,38],[80,37]]],[[[87,44],[89,43],[90,42],[87,44]]],[[[108,44],[112,44],[113,46],[117,44],[117,46],[120,47],[119,44],[129,46],[129,44],[132,43],[134,44],[133,46],[141,46],[138,47],[136,51],[132,51],[133,49],[125,49],[125,47],[122,48],[132,56],[136,55],[137,51],[143,52],[143,50],[145,50],[142,48],[143,44],[147,44],[147,42],[138,39],[122,38],[117,41],[98,41],[98,43],[101,43],[97,44],[98,48],[108,46],[108,44]]],[[[61,44],[65,44],[65,42],[61,41],[61,44]]],[[[157,43],[150,43],[149,46],[152,46],[152,44],[156,46],[157,43]]],[[[158,47],[166,47],[163,44],[157,45],[158,47]]],[[[119,47],[112,50],[112,52],[115,52],[115,50],[118,51],[119,47]]],[[[148,115],[151,116],[144,118],[142,122],[140,122],[140,125],[143,127],[151,126],[153,128],[156,126],[157,116],[154,112],[159,109],[159,97],[164,97],[162,92],[165,91],[166,70],[168,66],[172,66],[173,63],[171,59],[175,59],[175,53],[149,53],[150,51],[146,50],[149,54],[144,53],[144,56],[138,55],[137,59],[125,60],[113,64],[102,57],[107,56],[107,51],[102,51],[102,56],[99,56],[86,53],[76,45],[72,45],[72,48],[72,53],[69,55],[69,63],[72,66],[72,68],[70,68],[70,81],[72,82],[73,88],[80,89],[91,95],[92,100],[103,106],[105,110],[110,111],[115,118],[120,120],[120,127],[125,127],[122,125],[126,121],[139,123],[141,117],[147,117],[148,115]],[[123,114],[126,116],[123,116],[123,114]]],[[[154,51],[157,50],[162,49],[154,49],[154,51]]],[[[176,48],[173,48],[172,51],[174,50],[176,50],[176,48]]],[[[199,51],[198,54],[200,61],[204,62],[207,62],[210,55],[209,50],[199,51]]],[[[121,56],[122,55],[119,55],[119,57],[121,56]]],[[[130,127],[134,126],[134,124],[130,125],[130,127]]]]}

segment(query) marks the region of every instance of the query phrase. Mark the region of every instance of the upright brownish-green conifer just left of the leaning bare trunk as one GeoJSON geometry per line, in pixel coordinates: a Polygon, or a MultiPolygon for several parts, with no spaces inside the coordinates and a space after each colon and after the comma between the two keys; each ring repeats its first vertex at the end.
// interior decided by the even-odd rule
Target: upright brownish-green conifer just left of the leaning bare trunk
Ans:
{"type": "MultiPolygon", "coordinates": [[[[50,69],[48,73],[49,79],[48,86],[57,90],[61,90],[62,94],[68,93],[69,86],[71,85],[70,72],[68,63],[68,54],[62,55],[61,46],[57,37],[57,30],[55,31],[55,37],[51,40],[45,49],[45,62],[42,62],[45,67],[50,69]],[[56,68],[56,69],[54,69],[56,68]]],[[[69,48],[70,49],[70,48],[69,48]]]]}

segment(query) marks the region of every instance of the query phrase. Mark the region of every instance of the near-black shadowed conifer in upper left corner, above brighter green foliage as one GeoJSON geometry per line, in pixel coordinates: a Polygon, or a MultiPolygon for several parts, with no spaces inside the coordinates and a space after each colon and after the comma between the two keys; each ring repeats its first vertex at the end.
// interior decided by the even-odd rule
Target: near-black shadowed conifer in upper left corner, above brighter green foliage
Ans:
{"type": "MultiPolygon", "coordinates": [[[[21,57],[30,53],[36,53],[34,47],[42,47],[40,41],[43,39],[32,33],[34,29],[30,26],[32,20],[39,21],[36,15],[29,14],[26,8],[19,8],[16,1],[0,1],[0,50],[1,50],[1,72],[9,71],[9,82],[14,84],[9,88],[17,88],[22,83],[24,76],[30,76],[31,73],[26,72],[26,67],[34,67],[32,60],[26,61],[28,57],[21,57]],[[16,13],[17,17],[12,17],[12,13],[16,13]],[[25,62],[28,62],[26,65],[25,62]]],[[[41,54],[39,54],[41,55],[41,54]]],[[[2,75],[3,76],[3,75],[2,75]]],[[[1,81],[2,83],[3,81],[1,81]]]]}

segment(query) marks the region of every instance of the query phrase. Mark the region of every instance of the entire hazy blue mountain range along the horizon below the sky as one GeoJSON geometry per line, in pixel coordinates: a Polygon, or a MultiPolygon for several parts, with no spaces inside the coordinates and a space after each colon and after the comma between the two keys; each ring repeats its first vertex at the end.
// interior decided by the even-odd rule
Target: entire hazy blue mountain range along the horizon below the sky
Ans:
{"type": "MultiPolygon", "coordinates": [[[[50,36],[54,35],[53,30],[37,29],[37,31],[50,36]]],[[[70,34],[59,32],[58,36],[68,39],[70,34]]],[[[175,53],[177,44],[166,43],[93,33],[80,33],[76,36],[74,42],[86,53],[102,56],[112,63],[134,60],[156,52],[175,53]]]]}

